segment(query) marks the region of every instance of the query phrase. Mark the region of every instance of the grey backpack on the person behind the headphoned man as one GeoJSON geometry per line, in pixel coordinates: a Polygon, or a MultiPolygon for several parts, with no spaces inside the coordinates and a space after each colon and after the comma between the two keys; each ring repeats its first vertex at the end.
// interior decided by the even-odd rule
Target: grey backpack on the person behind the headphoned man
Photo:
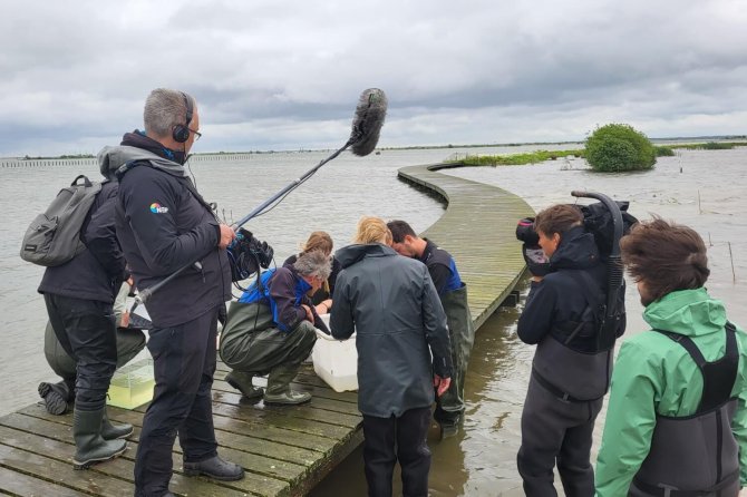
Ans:
{"type": "Polygon", "coordinates": [[[80,234],[101,183],[85,175],[60,189],[49,207],[33,218],[21,244],[21,259],[43,266],[65,264],[86,248],[80,234]],[[83,178],[83,183],[78,183],[83,178]]]}

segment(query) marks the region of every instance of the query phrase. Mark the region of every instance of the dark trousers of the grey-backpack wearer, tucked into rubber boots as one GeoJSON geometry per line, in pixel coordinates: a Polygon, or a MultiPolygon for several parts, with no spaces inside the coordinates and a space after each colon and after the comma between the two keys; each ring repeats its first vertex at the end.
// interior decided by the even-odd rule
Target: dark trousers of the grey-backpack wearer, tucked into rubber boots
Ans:
{"type": "Polygon", "coordinates": [[[62,349],[75,360],[76,408],[98,410],[117,367],[117,340],[111,304],[45,294],[47,313],[62,349]]]}

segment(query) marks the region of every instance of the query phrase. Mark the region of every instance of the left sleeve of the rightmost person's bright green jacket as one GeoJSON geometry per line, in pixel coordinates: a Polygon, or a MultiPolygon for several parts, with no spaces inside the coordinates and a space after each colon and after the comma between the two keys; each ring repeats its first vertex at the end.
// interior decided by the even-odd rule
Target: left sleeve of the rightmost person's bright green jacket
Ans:
{"type": "Polygon", "coordinates": [[[614,363],[602,446],[596,459],[598,497],[628,495],[649,454],[659,390],[643,347],[623,342],[614,363]]]}

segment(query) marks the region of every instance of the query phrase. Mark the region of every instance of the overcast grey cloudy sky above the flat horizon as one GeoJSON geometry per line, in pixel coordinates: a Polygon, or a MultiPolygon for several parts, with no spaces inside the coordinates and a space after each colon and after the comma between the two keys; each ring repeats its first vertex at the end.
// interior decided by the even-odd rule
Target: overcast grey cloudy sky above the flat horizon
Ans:
{"type": "Polygon", "coordinates": [[[96,153],[151,89],[198,101],[194,152],[747,133],[745,0],[0,0],[0,156],[96,153]]]}

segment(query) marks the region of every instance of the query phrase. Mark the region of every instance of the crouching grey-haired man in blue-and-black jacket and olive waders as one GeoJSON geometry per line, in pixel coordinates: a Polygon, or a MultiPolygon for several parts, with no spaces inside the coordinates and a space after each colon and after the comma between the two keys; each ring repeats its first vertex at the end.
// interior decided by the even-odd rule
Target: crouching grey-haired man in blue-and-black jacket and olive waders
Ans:
{"type": "Polygon", "coordinates": [[[308,392],[291,390],[291,380],[311,353],[319,320],[311,302],[327,281],[330,260],[321,251],[301,254],[294,264],[265,271],[229,309],[221,333],[221,359],[231,371],[225,380],[249,399],[298,405],[308,392]],[[254,387],[255,376],[268,374],[268,388],[254,387]]]}

